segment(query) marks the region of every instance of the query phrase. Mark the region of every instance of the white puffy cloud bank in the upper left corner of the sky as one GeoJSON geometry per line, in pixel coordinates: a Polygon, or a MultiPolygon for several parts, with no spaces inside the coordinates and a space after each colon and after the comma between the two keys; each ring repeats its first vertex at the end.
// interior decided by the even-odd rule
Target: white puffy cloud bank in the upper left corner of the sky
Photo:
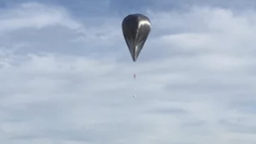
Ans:
{"type": "Polygon", "coordinates": [[[81,26],[80,23],[72,20],[66,10],[57,6],[25,3],[18,8],[1,11],[0,31],[14,31],[22,28],[40,29],[56,25],[78,29],[81,26]]]}

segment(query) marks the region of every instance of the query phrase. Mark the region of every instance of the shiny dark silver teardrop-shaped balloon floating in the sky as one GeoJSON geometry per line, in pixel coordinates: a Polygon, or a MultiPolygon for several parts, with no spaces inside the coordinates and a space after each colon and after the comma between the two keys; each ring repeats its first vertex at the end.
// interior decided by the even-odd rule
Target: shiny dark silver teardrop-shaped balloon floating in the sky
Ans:
{"type": "Polygon", "coordinates": [[[151,31],[151,22],[142,14],[130,14],[124,18],[122,29],[132,60],[136,62],[151,31]]]}

